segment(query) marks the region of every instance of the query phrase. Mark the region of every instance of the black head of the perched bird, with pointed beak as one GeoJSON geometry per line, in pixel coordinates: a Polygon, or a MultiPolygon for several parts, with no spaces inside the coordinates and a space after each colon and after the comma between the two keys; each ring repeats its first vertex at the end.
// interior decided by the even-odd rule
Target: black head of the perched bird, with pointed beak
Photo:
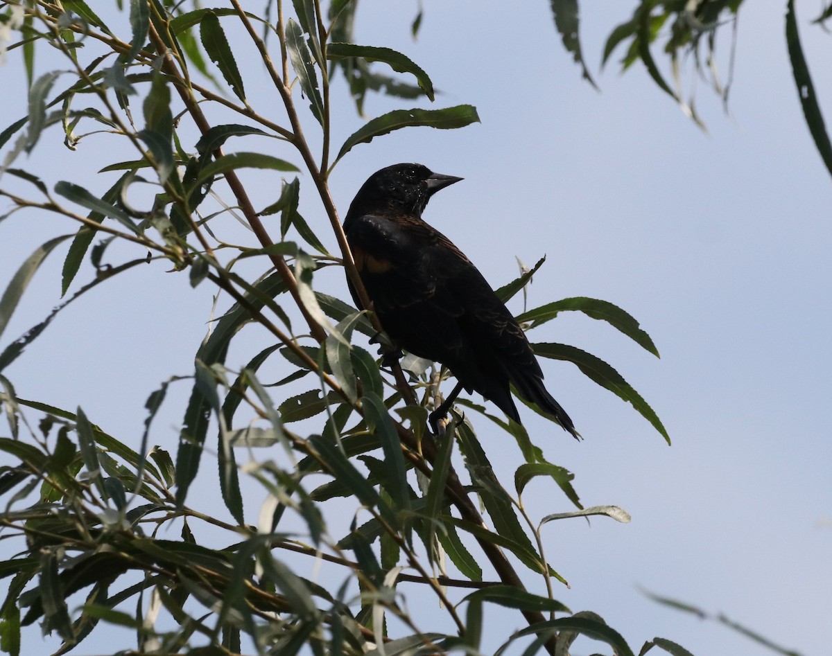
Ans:
{"type": "Polygon", "coordinates": [[[369,176],[347,216],[389,211],[422,215],[433,194],[459,180],[462,178],[433,173],[421,164],[394,164],[369,176]]]}

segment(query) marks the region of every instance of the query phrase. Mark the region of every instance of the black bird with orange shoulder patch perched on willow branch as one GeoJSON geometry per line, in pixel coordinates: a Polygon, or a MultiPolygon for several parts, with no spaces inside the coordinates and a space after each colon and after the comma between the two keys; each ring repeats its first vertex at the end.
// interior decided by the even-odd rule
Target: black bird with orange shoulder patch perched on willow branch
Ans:
{"type": "Polygon", "coordinates": [[[434,428],[463,388],[476,390],[520,422],[511,384],[579,437],[543,387],[543,372],[512,314],[450,239],[422,220],[430,197],[459,180],[420,164],[397,164],[361,187],[344,231],[372,309],[398,347],[442,363],[457,378],[453,392],[431,414],[434,428]]]}

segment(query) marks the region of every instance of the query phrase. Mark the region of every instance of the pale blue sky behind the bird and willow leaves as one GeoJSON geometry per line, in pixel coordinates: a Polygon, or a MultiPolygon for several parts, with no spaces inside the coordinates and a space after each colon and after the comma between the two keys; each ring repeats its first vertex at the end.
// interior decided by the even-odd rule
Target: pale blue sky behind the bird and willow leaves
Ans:
{"type": "MultiPolygon", "coordinates": [[[[606,35],[628,17],[624,4],[585,9],[583,48],[593,72],[606,35]]],[[[336,203],[343,215],[369,174],[398,161],[461,175],[463,182],[434,197],[425,219],[495,287],[516,276],[516,257],[531,265],[545,254],[528,307],[603,298],[633,314],[656,343],[661,359],[582,316],[562,315],[530,334],[532,341],[573,344],[612,364],[656,410],[673,441],[666,446],[631,407],[572,365],[543,363],[550,391],[586,440],[574,442],[525,412],[534,441],[576,474],[585,506],[616,504],[633,518],[628,525],[595,518],[591,525],[572,520],[544,527],[547,555],[572,586],[556,588],[557,599],[601,614],[636,649],[660,635],[694,654],[770,654],[716,623],[654,604],[641,587],[725,613],[802,654],[825,654],[832,640],[832,196],[790,76],[785,7],[745,3],[728,116],[696,81],[706,135],[640,64],[620,76],[615,60],[622,52],[597,74],[602,91],[592,89],[563,51],[547,2],[525,5],[508,13],[480,2],[424,2],[413,42],[415,3],[403,3],[400,15],[391,16],[389,3],[362,0],[359,41],[401,49],[442,91],[436,106],[473,104],[482,123],[460,131],[399,131],[356,146],[334,171],[336,203]]],[[[829,37],[809,24],[817,7],[799,5],[805,52],[821,104],[829,108],[832,94],[822,76],[829,37]]],[[[721,36],[726,76],[729,34],[721,36]]],[[[245,52],[237,54],[243,62],[245,52]]],[[[242,68],[252,77],[260,72],[256,64],[242,68]]],[[[17,55],[2,76],[20,90],[0,108],[5,127],[26,111],[17,55]]],[[[691,76],[685,81],[690,85],[691,76]]],[[[343,86],[334,91],[344,101],[343,86]]],[[[254,93],[258,101],[277,102],[267,90],[254,93]]],[[[366,111],[373,116],[397,106],[370,98],[366,111]]],[[[305,118],[312,135],[314,121],[305,118]]],[[[334,141],[359,126],[344,111],[334,141]]],[[[28,164],[47,171],[43,177],[52,184],[92,180],[101,155],[94,149],[106,138],[88,138],[75,155],[57,145],[59,136],[53,139],[28,164]]],[[[275,142],[255,141],[245,150],[258,145],[272,149],[275,142]]],[[[275,200],[273,175],[246,180],[256,206],[275,200]]],[[[302,178],[301,211],[321,225],[305,184],[302,178]]],[[[224,225],[253,244],[230,219],[224,225]]],[[[33,213],[7,219],[0,224],[0,280],[42,241],[73,229],[33,213]]],[[[336,248],[329,235],[324,241],[336,248]]],[[[114,249],[111,257],[118,256],[136,253],[114,249]]],[[[57,304],[61,257],[53,255],[37,275],[3,345],[57,304]]],[[[321,285],[346,293],[334,269],[321,285]]],[[[522,310],[518,298],[512,303],[522,310]]],[[[166,274],[158,264],[133,270],[62,313],[5,373],[22,397],[70,409],[83,403],[93,421],[126,441],[135,436],[137,445],[147,395],[172,374],[191,370],[209,313],[205,286],[191,290],[184,276],[166,274]],[[102,367],[87,367],[91,354],[102,367]]],[[[259,350],[255,343],[232,353],[238,364],[248,349],[259,350]]],[[[154,440],[171,450],[181,415],[176,395],[184,399],[186,392],[187,386],[174,392],[169,414],[156,422],[154,440]]],[[[511,481],[521,460],[510,438],[484,424],[479,437],[498,476],[511,481]]],[[[210,486],[210,461],[203,469],[210,486]]],[[[524,499],[537,517],[569,510],[542,481],[532,482],[524,499]]],[[[259,502],[251,502],[251,513],[259,502]]],[[[420,614],[435,612],[433,599],[424,603],[420,614]]],[[[510,614],[487,619],[496,635],[522,626],[510,614]]],[[[574,654],[593,647],[576,645],[574,654]]]]}

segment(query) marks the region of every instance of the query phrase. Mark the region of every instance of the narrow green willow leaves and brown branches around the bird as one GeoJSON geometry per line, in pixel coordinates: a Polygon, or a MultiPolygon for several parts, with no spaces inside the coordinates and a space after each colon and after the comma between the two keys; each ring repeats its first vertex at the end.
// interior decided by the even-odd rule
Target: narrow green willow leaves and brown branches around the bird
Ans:
{"type": "MultiPolygon", "coordinates": [[[[25,259],[0,298],[2,336],[42,262],[63,252],[62,303],[22,337],[0,344],[8,427],[0,437],[0,530],[17,550],[0,563],[9,582],[0,606],[4,651],[23,653],[22,627],[41,623],[61,637],[58,654],[100,624],[130,629],[132,649],[141,653],[502,653],[522,640],[529,654],[566,654],[578,634],[622,656],[653,647],[687,653],[661,638],[633,649],[597,614],[572,614],[557,600],[565,581],[547,560],[542,525],[587,515],[627,521],[626,512],[584,508],[572,472],[548,461],[522,426],[476,403],[462,402],[467,412],[453,412],[433,435],[428,409],[447,387],[448,372],[418,358],[384,366],[366,347],[366,338],[384,344],[374,315],[316,289],[316,276],[337,266],[364,294],[329,191],[334,167],[391,131],[467,126],[478,121],[473,106],[409,106],[434,101],[428,72],[389,47],[355,43],[350,0],[328,7],[279,0],[259,13],[239,0],[212,8],[116,2],[129,17],[124,33],[108,26],[113,7],[82,0],[5,4],[0,37],[11,42],[14,34],[7,49],[22,50],[28,112],[0,133],[0,195],[11,207],[0,220],[11,224],[12,215],[37,212],[54,217],[56,233],[67,224],[72,232],[25,259]],[[260,53],[258,67],[241,65],[237,40],[260,53]],[[59,61],[36,78],[36,53],[47,52],[59,61]],[[333,92],[337,76],[349,97],[333,92]],[[279,120],[251,104],[250,90],[263,85],[280,97],[279,120]],[[343,143],[334,142],[333,116],[363,116],[371,92],[401,107],[369,117],[343,143]],[[95,131],[108,133],[112,150],[85,150],[95,131]],[[65,180],[43,179],[37,157],[26,155],[37,155],[42,142],[57,147],[56,138],[79,156],[101,159],[100,176],[73,179],[67,171],[65,180]],[[282,176],[273,204],[252,205],[240,175],[245,169],[282,176]],[[136,187],[152,189],[145,206],[131,200],[136,187]],[[301,190],[317,196],[319,215],[300,215],[301,190]],[[229,214],[250,229],[249,243],[234,244],[225,234],[218,218],[229,214]],[[270,215],[280,215],[279,228],[262,220],[270,215]],[[333,238],[337,254],[324,247],[333,238]],[[136,256],[104,264],[113,243],[132,244],[136,256]],[[239,273],[245,260],[256,263],[255,275],[239,273]],[[97,273],[82,283],[87,261],[97,273]],[[146,262],[188,276],[193,287],[210,285],[222,312],[205,340],[194,338],[191,377],[171,377],[148,391],[141,443],[108,434],[82,407],[18,397],[3,372],[52,318],[146,262]],[[254,326],[270,334],[272,345],[246,362],[231,360],[231,344],[254,326]],[[359,335],[363,341],[354,343],[359,335]],[[260,368],[275,361],[285,374],[266,383],[260,368]],[[154,444],[152,426],[175,384],[191,392],[174,454],[154,444]],[[524,462],[513,489],[494,475],[478,441],[485,427],[506,432],[518,446],[524,462]],[[249,461],[242,465],[244,451],[249,461]],[[214,457],[223,512],[202,507],[196,494],[197,472],[214,457]],[[522,493],[535,477],[562,491],[575,510],[529,515],[522,493]],[[245,509],[250,487],[243,481],[268,496],[256,525],[245,509]],[[338,532],[344,516],[349,527],[338,532]],[[334,572],[325,582],[307,574],[320,562],[334,572]],[[529,573],[537,591],[524,583],[529,573]],[[424,625],[414,614],[407,603],[413,589],[441,604],[441,622],[424,625]],[[70,595],[81,600],[72,604],[70,595]],[[481,644],[486,604],[512,609],[525,622],[503,637],[502,647],[481,644]]],[[[695,12],[681,4],[642,2],[612,33],[604,59],[629,42],[624,66],[640,59],[696,117],[692,103],[682,102],[658,72],[651,44],[670,22],[665,49],[674,63],[683,50],[697,53],[703,39],[712,52],[716,25],[724,13],[735,15],[739,2],[699,2],[695,12]]],[[[552,0],[552,12],[565,47],[592,81],[577,37],[576,0],[552,0]]],[[[789,34],[795,62],[800,45],[795,29],[789,34]]],[[[808,79],[805,64],[800,76],[808,79]]],[[[815,110],[806,111],[809,119],[815,110]]],[[[822,139],[815,139],[823,153],[822,139]]],[[[521,291],[542,264],[498,289],[501,298],[521,291]]],[[[518,319],[535,328],[563,312],[602,320],[658,355],[636,319],[606,301],[566,298],[518,319]]],[[[656,412],[611,365],[572,345],[534,348],[540,357],[577,365],[670,441],[656,412]]],[[[128,645],[113,651],[120,649],[128,645]]]]}

